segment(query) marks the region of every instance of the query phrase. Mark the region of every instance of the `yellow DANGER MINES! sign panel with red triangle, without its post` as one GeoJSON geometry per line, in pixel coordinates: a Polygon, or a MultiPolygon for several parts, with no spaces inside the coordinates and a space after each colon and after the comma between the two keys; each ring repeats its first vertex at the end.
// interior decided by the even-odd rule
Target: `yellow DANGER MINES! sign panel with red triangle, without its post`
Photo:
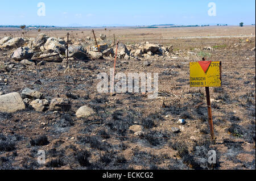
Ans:
{"type": "Polygon", "coordinates": [[[220,87],[221,62],[200,61],[190,62],[191,87],[220,87]]]}

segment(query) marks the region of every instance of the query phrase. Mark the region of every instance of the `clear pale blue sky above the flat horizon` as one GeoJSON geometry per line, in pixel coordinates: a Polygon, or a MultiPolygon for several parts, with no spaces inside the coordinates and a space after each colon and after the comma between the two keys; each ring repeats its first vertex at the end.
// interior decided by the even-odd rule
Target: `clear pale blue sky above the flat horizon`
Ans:
{"type": "Polygon", "coordinates": [[[255,24],[255,0],[9,0],[1,1],[0,25],[138,26],[151,24],[255,24]],[[38,3],[46,16],[38,16],[38,3]],[[208,4],[216,4],[209,16],[208,4]]]}

